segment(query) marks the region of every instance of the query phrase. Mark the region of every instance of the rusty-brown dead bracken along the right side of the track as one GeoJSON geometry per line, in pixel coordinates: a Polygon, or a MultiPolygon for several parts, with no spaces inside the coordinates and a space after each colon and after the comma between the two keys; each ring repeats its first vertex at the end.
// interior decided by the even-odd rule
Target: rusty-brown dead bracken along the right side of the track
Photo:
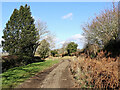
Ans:
{"type": "Polygon", "coordinates": [[[104,52],[91,59],[85,55],[71,61],[71,72],[77,83],[75,87],[118,88],[118,61],[120,57],[106,58],[104,52]]]}

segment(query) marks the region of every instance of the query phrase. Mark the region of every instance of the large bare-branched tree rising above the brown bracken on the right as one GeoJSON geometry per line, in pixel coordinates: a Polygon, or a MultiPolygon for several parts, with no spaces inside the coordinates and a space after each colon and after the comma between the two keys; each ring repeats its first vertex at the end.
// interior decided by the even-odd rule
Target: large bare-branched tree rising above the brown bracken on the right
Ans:
{"type": "Polygon", "coordinates": [[[84,35],[91,44],[97,44],[104,47],[111,39],[118,37],[118,7],[105,9],[90,23],[83,26],[84,35]]]}

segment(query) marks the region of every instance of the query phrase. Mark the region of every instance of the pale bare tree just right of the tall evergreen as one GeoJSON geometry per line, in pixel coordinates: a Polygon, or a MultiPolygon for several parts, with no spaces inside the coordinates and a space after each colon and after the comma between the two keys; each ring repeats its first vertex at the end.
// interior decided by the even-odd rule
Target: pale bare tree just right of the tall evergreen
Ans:
{"type": "MultiPolygon", "coordinates": [[[[50,44],[50,49],[55,47],[55,35],[52,34],[47,27],[47,24],[45,22],[42,22],[40,20],[37,20],[35,23],[35,26],[39,32],[38,38],[38,46],[41,45],[41,41],[45,39],[50,44]]],[[[36,46],[36,53],[38,50],[38,46],[36,46]]]]}

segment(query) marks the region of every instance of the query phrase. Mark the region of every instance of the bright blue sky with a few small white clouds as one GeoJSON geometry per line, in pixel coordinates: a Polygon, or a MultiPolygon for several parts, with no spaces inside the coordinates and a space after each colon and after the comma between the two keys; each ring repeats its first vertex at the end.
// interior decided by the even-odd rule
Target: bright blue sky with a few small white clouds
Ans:
{"type": "Polygon", "coordinates": [[[98,15],[101,10],[112,5],[111,2],[2,2],[2,6],[0,4],[2,8],[0,40],[2,40],[2,30],[13,10],[25,4],[30,6],[35,21],[39,19],[46,22],[48,30],[55,34],[56,48],[62,47],[65,41],[74,41],[80,49],[85,43],[82,25],[90,22],[95,14],[98,15]]]}

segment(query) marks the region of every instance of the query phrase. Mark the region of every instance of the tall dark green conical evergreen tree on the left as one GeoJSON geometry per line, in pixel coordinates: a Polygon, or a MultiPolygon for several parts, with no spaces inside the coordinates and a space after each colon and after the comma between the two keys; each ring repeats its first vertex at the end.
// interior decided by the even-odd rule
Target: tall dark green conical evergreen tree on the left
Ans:
{"type": "Polygon", "coordinates": [[[31,16],[30,6],[14,9],[3,30],[3,51],[9,54],[33,56],[38,46],[38,31],[31,16]]]}

